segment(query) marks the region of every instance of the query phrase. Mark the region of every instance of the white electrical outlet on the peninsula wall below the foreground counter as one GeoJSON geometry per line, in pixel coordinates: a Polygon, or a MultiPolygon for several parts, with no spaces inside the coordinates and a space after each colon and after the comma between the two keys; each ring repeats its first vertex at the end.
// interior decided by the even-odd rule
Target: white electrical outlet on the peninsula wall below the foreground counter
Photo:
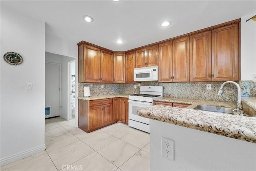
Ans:
{"type": "Polygon", "coordinates": [[[161,145],[162,156],[169,160],[174,160],[174,141],[165,137],[161,137],[161,145]]]}

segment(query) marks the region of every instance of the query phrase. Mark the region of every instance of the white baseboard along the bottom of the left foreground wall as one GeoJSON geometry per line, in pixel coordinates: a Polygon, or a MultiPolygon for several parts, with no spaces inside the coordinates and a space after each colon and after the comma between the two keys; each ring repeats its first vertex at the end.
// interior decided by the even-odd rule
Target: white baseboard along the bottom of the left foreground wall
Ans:
{"type": "Polygon", "coordinates": [[[28,157],[30,155],[34,155],[36,153],[44,151],[45,149],[46,149],[46,146],[44,144],[44,145],[40,145],[38,147],[34,147],[34,148],[26,150],[26,151],[22,151],[21,153],[16,153],[16,154],[11,155],[9,157],[5,157],[3,159],[0,159],[0,166],[4,166],[4,165],[7,165],[7,164],[12,163],[14,161],[17,161],[17,160],[23,159],[25,157],[28,157]]]}

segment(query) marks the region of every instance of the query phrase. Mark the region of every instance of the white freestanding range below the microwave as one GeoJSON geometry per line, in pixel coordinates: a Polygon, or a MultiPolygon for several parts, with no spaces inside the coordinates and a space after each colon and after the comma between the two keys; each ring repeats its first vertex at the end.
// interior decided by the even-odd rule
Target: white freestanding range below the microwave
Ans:
{"type": "Polygon", "coordinates": [[[162,97],[162,86],[141,86],[140,94],[129,95],[128,125],[149,133],[149,119],[139,116],[137,111],[154,105],[154,99],[160,99],[162,97]]]}

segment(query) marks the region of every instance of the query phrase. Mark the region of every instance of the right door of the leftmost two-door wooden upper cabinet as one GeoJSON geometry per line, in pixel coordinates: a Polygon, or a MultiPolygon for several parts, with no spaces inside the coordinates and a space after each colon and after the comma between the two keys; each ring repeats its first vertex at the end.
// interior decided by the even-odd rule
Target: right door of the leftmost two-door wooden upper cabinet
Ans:
{"type": "Polygon", "coordinates": [[[111,52],[101,51],[100,60],[100,81],[102,83],[112,83],[113,80],[113,54],[111,52]]]}

